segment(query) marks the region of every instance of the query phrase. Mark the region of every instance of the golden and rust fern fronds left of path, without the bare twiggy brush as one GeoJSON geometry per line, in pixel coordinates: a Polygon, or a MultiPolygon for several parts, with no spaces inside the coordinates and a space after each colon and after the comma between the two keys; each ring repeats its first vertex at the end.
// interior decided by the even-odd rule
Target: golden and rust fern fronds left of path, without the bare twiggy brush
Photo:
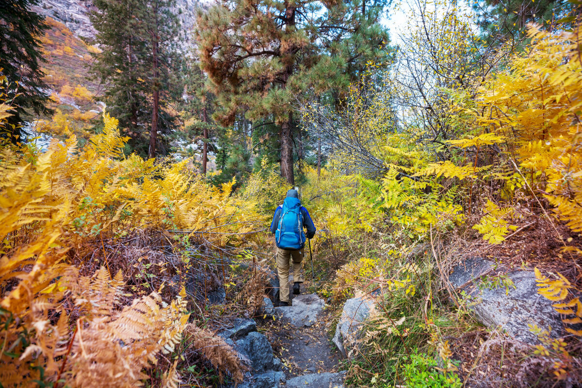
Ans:
{"type": "MultiPolygon", "coordinates": [[[[74,136],[41,154],[3,147],[0,157],[0,337],[5,387],[136,386],[159,354],[174,351],[187,323],[184,290],[124,305],[125,282],[101,268],[79,275],[68,252],[137,228],[191,230],[225,246],[251,232],[254,214],[230,197],[232,184],[210,187],[184,163],[154,165],[125,157],[118,122],[83,149],[74,136]],[[70,308],[74,307],[70,312],[70,308]],[[62,373],[61,373],[62,369],[62,373]]],[[[246,245],[253,244],[246,236],[246,245]]],[[[93,248],[94,249],[94,248],[93,248]]],[[[107,262],[105,262],[107,264],[107,262]]],[[[177,380],[175,368],[165,382],[177,380]]]]}

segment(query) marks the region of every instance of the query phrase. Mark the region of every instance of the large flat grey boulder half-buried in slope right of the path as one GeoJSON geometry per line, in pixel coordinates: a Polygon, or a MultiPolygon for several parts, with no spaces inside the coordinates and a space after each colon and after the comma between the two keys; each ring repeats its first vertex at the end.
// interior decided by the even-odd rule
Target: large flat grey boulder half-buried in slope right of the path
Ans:
{"type": "Polygon", "coordinates": [[[538,338],[530,332],[528,325],[541,329],[552,326],[551,336],[563,335],[563,323],[553,309],[552,302],[537,293],[534,272],[514,270],[508,272],[515,289],[506,287],[491,289],[478,279],[482,273],[491,270],[494,262],[474,257],[453,268],[449,282],[457,288],[462,287],[474,302],[473,311],[484,325],[502,328],[510,336],[530,344],[538,343],[538,338]],[[473,280],[472,282],[470,280],[473,280]]]}

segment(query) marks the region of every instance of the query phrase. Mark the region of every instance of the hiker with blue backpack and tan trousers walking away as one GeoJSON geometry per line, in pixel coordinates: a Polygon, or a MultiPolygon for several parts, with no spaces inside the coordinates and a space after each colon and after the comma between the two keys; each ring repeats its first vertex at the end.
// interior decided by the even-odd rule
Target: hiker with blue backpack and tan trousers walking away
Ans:
{"type": "Polygon", "coordinates": [[[301,276],[301,261],[303,260],[303,248],[305,247],[305,233],[307,239],[315,236],[315,225],[306,208],[301,206],[299,193],[291,189],[287,191],[287,197],[283,205],[275,210],[271,222],[271,233],[275,234],[277,246],[276,263],[279,275],[279,303],[280,306],[289,305],[289,264],[293,261],[293,294],[299,294],[301,276]]]}

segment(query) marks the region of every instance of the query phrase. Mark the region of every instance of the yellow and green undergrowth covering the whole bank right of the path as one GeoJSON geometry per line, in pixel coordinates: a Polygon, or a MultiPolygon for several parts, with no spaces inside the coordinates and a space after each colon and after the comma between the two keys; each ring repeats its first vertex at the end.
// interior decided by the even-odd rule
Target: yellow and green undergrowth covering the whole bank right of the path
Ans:
{"type": "Polygon", "coordinates": [[[318,244],[330,259],[339,245],[343,257],[323,291],[336,308],[348,297],[375,306],[349,346],[351,386],[580,382],[579,27],[530,26],[526,51],[483,79],[464,80],[474,81],[473,95],[469,87],[442,88],[439,109],[456,138],[437,149],[424,129],[393,126],[385,93],[392,92],[391,74],[382,87],[354,87],[343,112],[316,103],[303,109],[306,125],[324,125],[338,147],[332,162],[352,173],[335,183],[323,218],[342,209],[361,227],[342,229],[341,218],[329,218],[340,243],[324,234],[318,244]],[[371,222],[357,222],[360,213],[371,222]],[[468,255],[496,259],[481,287],[506,294],[514,288],[510,270],[535,273],[538,293],[553,302],[563,327],[530,328],[540,343],[526,344],[478,325],[478,300],[448,281],[468,255]]]}

